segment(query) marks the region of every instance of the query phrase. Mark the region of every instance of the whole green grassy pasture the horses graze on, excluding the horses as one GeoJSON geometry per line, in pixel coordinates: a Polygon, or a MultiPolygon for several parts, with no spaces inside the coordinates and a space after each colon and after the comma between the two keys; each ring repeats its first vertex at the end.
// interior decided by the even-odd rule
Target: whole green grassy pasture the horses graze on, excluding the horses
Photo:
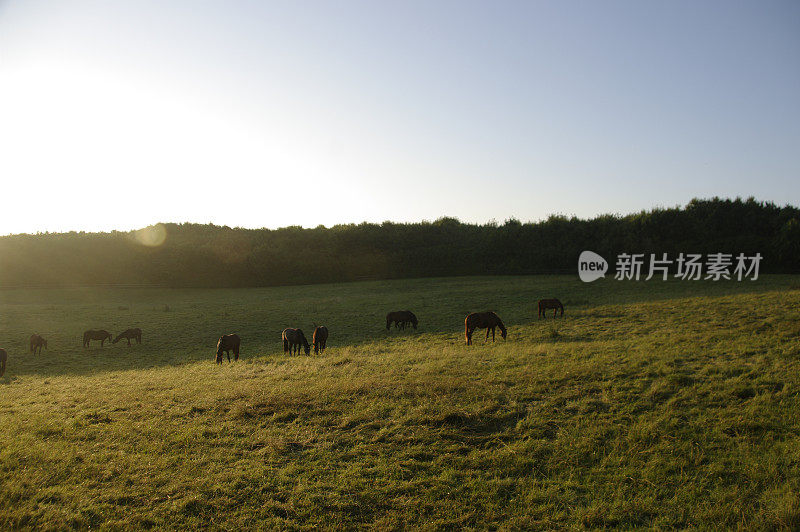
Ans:
{"type": "Polygon", "coordinates": [[[0,291],[0,346],[0,528],[800,528],[797,276],[0,291]]]}

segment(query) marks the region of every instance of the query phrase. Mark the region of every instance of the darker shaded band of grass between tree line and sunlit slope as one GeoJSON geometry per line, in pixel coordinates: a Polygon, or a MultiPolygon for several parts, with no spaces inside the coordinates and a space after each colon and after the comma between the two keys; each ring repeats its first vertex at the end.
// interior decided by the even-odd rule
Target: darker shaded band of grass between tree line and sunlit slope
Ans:
{"type": "MultiPolygon", "coordinates": [[[[239,363],[247,363],[254,356],[283,356],[280,331],[298,325],[310,329],[311,323],[324,323],[331,330],[330,354],[337,348],[375,342],[415,343],[423,334],[463,336],[464,316],[487,309],[498,312],[509,327],[531,330],[522,341],[587,342],[593,334],[567,330],[570,323],[576,318],[622,319],[627,313],[618,305],[787,291],[798,285],[798,277],[789,275],[763,276],[758,282],[601,279],[589,284],[573,276],[455,277],[253,289],[97,289],[94,306],[87,304],[85,290],[82,299],[70,299],[64,291],[28,294],[17,290],[0,294],[0,310],[15,312],[4,313],[0,332],[17,339],[16,344],[6,343],[7,349],[14,349],[9,349],[8,370],[0,383],[13,384],[24,375],[80,375],[198,361],[208,361],[209,371],[218,371],[213,357],[220,334],[240,334],[243,360],[239,363]],[[25,306],[28,296],[34,303],[25,306]],[[543,297],[561,298],[564,317],[537,320],[536,301],[543,297]],[[170,302],[168,313],[163,310],[164,301],[170,302]],[[419,330],[387,332],[385,313],[397,308],[413,308],[420,318],[419,330]],[[77,337],[48,334],[50,349],[35,356],[24,344],[33,330],[59,327],[77,334],[85,324],[113,322],[114,316],[120,324],[141,326],[143,343],[84,349],[77,337]],[[60,322],[53,322],[53,317],[60,322]]],[[[310,337],[310,330],[307,333],[310,337]]]]}

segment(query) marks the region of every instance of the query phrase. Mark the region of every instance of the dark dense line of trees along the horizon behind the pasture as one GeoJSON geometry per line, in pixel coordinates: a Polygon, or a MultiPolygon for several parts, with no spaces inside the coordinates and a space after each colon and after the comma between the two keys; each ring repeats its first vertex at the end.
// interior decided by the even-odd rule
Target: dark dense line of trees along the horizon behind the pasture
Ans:
{"type": "Polygon", "coordinates": [[[159,224],[140,231],[0,237],[0,287],[252,287],[460,275],[577,272],[592,250],[760,253],[763,273],[800,272],[800,209],[753,198],[535,223],[361,223],[242,229],[159,224]],[[148,232],[156,232],[152,238],[148,232]],[[163,242],[162,242],[163,240],[163,242]],[[153,245],[155,244],[155,245],[153,245]]]}

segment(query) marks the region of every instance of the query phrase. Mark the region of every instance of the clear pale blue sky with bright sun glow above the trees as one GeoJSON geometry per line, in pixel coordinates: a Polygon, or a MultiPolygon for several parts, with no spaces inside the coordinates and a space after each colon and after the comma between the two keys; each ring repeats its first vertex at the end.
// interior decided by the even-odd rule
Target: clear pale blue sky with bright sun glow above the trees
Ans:
{"type": "Polygon", "coordinates": [[[0,234],[800,205],[800,2],[0,0],[0,234]]]}

